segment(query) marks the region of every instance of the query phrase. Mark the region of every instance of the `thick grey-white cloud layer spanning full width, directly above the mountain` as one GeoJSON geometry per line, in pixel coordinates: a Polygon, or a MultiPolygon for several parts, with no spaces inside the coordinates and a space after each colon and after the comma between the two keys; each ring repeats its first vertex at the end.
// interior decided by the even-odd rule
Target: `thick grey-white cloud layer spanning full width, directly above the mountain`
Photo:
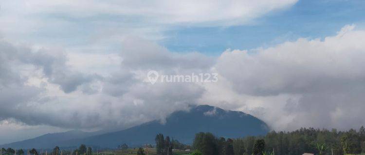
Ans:
{"type": "Polygon", "coordinates": [[[0,126],[11,120],[63,129],[125,128],[154,119],[163,122],[190,104],[209,104],[242,110],[274,130],[358,128],[365,124],[365,31],[353,29],[349,25],[324,39],[300,38],[269,48],[227,49],[218,57],[174,53],[130,37],[117,55],[95,59],[95,64],[113,69],[92,72],[82,56],[67,50],[35,49],[3,39],[0,126]],[[149,70],[218,73],[219,81],[152,85],[146,82],[149,70]]]}

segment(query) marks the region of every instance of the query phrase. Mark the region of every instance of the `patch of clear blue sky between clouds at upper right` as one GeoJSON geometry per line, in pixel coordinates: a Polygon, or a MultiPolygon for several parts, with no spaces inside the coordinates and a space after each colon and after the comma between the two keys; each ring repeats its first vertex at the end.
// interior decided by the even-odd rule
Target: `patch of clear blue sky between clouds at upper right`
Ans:
{"type": "Polygon", "coordinates": [[[171,51],[219,55],[227,48],[270,47],[300,37],[323,39],[335,35],[347,24],[363,27],[364,7],[364,0],[299,0],[285,10],[254,19],[249,25],[167,31],[160,44],[171,51]]]}

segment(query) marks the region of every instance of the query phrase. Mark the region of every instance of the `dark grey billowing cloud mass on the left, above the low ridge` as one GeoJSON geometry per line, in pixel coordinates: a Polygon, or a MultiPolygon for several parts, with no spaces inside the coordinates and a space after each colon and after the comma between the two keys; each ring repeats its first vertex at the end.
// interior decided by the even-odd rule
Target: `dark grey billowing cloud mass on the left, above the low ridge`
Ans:
{"type": "Polygon", "coordinates": [[[29,47],[20,50],[17,45],[3,43],[1,68],[6,70],[2,71],[4,74],[0,78],[4,81],[0,85],[3,88],[1,106],[4,107],[0,118],[15,119],[28,125],[101,129],[163,120],[169,113],[188,109],[189,104],[196,103],[204,89],[197,84],[151,85],[144,82],[146,72],[156,69],[180,74],[187,70],[209,70],[213,62],[209,61],[213,58],[198,53],[171,53],[157,44],[131,38],[123,42],[118,70],[109,74],[98,74],[100,70],[94,70],[94,74],[88,75],[74,71],[68,64],[77,63],[68,63],[64,52],[32,51],[29,47]],[[135,54],[151,57],[139,58],[135,54]],[[201,60],[196,63],[200,65],[183,63],[193,60],[201,60]],[[153,65],[148,67],[147,64],[153,65]],[[19,78],[15,80],[13,77],[19,78]],[[7,86],[11,80],[18,86],[7,86]]]}

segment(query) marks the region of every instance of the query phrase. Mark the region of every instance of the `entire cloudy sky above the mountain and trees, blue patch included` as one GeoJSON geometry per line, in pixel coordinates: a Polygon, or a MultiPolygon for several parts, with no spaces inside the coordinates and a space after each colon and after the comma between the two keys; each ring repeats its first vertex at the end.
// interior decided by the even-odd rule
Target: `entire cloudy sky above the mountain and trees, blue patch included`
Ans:
{"type": "Polygon", "coordinates": [[[363,0],[1,0],[0,144],[205,104],[276,131],[357,129],[364,15],[363,0]]]}

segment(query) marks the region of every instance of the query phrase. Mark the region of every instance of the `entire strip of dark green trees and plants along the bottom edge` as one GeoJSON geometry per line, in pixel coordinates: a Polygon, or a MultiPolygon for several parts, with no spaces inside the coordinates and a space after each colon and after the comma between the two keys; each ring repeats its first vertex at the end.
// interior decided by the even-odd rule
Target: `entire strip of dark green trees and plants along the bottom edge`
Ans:
{"type": "MultiPolygon", "coordinates": [[[[301,128],[292,132],[269,132],[265,136],[248,136],[237,139],[216,137],[212,133],[200,132],[195,135],[190,146],[178,140],[170,140],[169,136],[156,135],[155,148],[151,144],[128,149],[127,144],[118,146],[119,150],[92,153],[91,147],[81,144],[72,155],[365,155],[365,128],[346,132],[332,129],[301,128]]],[[[0,155],[24,155],[22,149],[1,148],[0,155]]],[[[27,155],[38,155],[36,149],[26,151],[27,155]]],[[[51,155],[60,155],[55,146],[51,155]]],[[[71,152],[63,151],[63,155],[71,152]]],[[[40,155],[45,155],[41,153],[40,155]]]]}

